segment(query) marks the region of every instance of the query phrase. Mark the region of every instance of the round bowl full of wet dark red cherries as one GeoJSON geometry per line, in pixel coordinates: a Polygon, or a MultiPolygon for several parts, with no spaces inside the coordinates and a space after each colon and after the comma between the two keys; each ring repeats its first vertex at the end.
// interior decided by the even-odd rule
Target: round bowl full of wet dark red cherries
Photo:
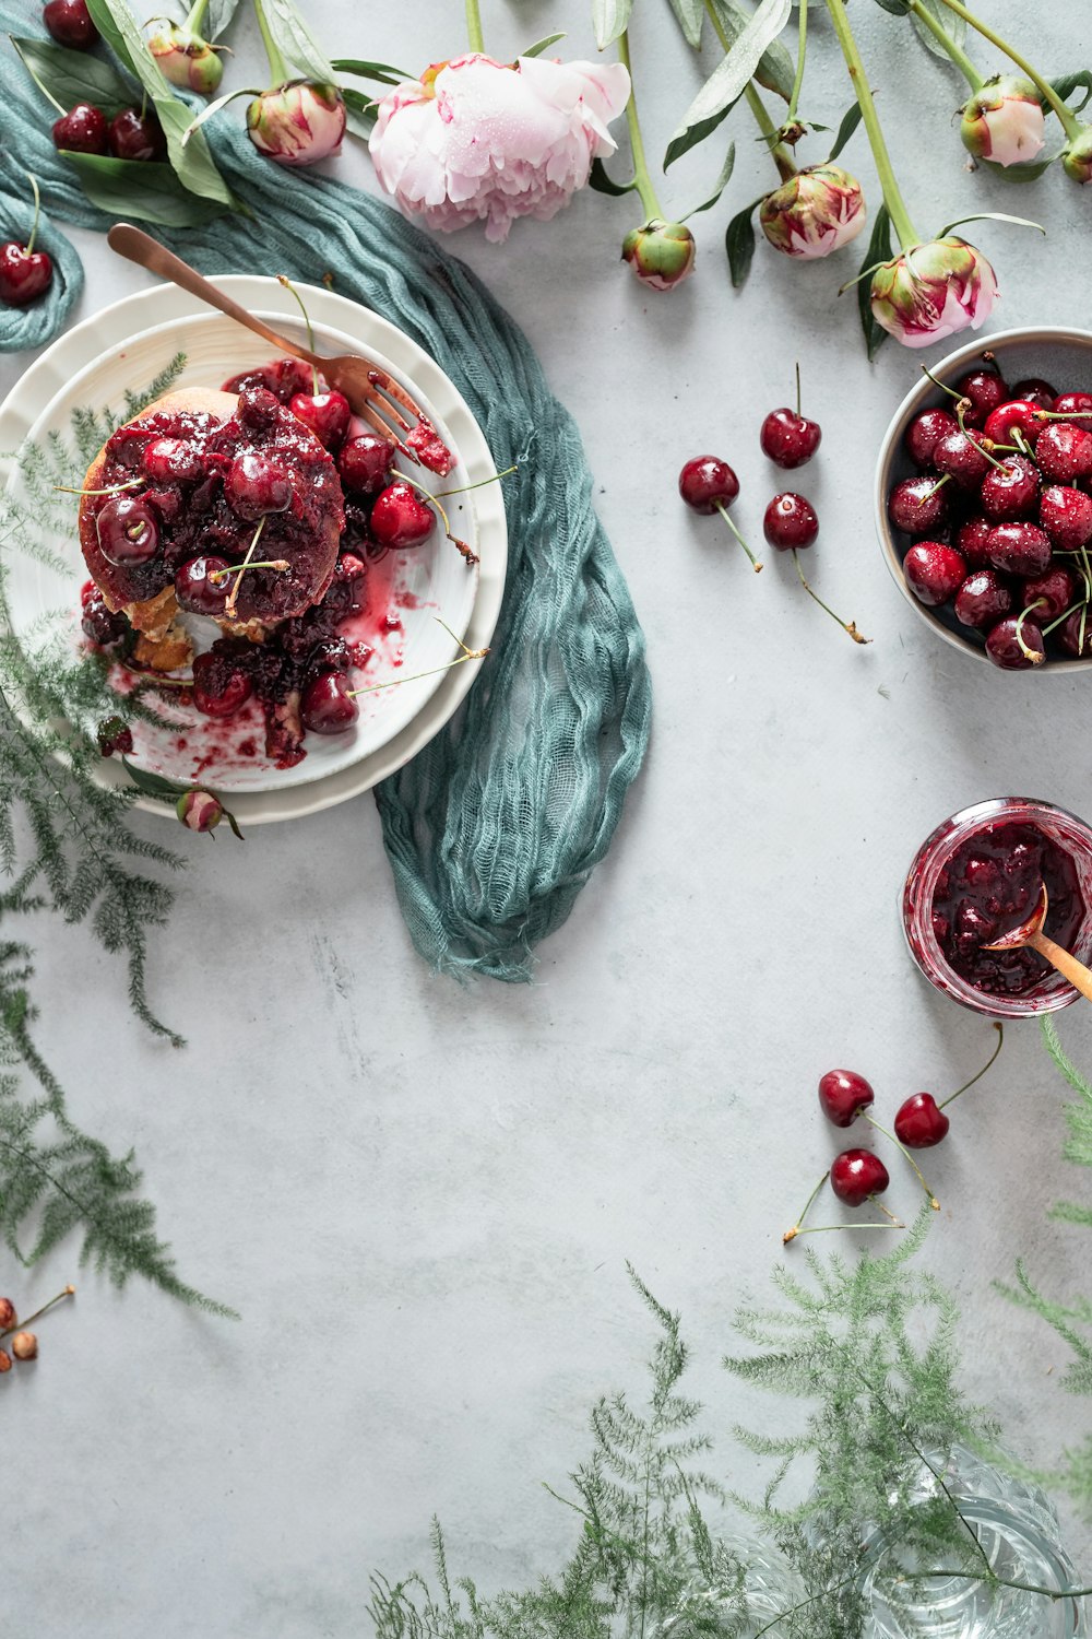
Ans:
{"type": "Polygon", "coordinates": [[[896,583],[1002,670],[1092,665],[1092,333],[961,347],[899,405],[876,467],[896,583]]]}

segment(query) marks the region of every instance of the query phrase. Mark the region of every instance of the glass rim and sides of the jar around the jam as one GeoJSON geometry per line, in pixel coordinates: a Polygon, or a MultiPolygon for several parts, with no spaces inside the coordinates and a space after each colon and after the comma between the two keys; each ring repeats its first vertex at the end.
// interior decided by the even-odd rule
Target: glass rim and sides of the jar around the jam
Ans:
{"type": "MultiPolygon", "coordinates": [[[[1059,936],[1048,913],[1045,931],[1072,951],[1081,962],[1089,964],[1092,960],[1092,829],[1084,820],[1077,820],[1064,808],[1054,808],[1051,803],[1030,797],[994,797],[972,808],[963,808],[951,820],[936,826],[932,836],[922,842],[910,865],[902,890],[902,926],[910,956],[932,985],[964,1008],[986,1013],[987,1018],[1020,1019],[1066,1008],[1077,1000],[1079,992],[1053,967],[1046,967],[1046,972],[1012,993],[976,985],[950,960],[938,934],[938,924],[943,933],[943,916],[933,916],[938,888],[941,892],[945,888],[948,867],[956,860],[956,856],[968,857],[961,854],[964,844],[982,838],[989,847],[1004,826],[1031,826],[1066,856],[1059,864],[1064,867],[1064,877],[1071,888],[1067,895],[1071,903],[1066,905],[1063,893],[1056,895],[1056,901],[1053,895],[1051,903],[1058,913],[1069,916],[1071,929],[1066,929],[1067,936],[1059,936]]],[[[1010,919],[1007,928],[1012,926],[1010,919]]],[[[1036,962],[1046,965],[1041,959],[1036,962]]]]}

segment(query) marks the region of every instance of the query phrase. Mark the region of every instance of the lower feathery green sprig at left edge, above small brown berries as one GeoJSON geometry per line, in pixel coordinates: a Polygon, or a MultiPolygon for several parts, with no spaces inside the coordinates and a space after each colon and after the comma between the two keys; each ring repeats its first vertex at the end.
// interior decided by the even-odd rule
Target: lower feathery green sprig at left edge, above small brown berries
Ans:
{"type": "Polygon", "coordinates": [[[34,1264],[79,1231],[80,1262],[105,1270],[116,1287],[142,1275],[183,1303],[231,1314],[178,1280],[156,1236],[156,1211],[136,1193],[141,1174],[133,1155],[113,1157],[69,1118],[64,1092],[31,1037],[31,974],[26,946],[0,946],[0,1236],[20,1262],[34,1264]],[[20,1072],[38,1083],[33,1098],[20,1096],[20,1072]]]}

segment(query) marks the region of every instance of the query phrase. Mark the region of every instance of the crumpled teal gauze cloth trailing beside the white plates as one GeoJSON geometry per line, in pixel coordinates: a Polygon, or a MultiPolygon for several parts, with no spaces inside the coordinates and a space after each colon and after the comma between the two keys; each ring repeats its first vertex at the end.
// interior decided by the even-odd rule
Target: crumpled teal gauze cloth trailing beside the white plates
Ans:
{"type": "MultiPolygon", "coordinates": [[[[0,5],[0,25],[18,31],[25,20],[0,5]]],[[[0,92],[0,188],[18,193],[20,174],[33,170],[57,216],[108,228],[57,156],[51,110],[8,51],[0,92]]],[[[257,223],[142,226],[205,274],[288,272],[321,284],[332,272],[334,290],[435,357],[498,470],[519,464],[504,480],[509,567],[493,652],[457,716],[375,795],[421,956],[449,974],[527,980],[534,947],[565,921],[611,846],[652,716],[643,633],[593,511],[580,433],[527,339],[462,262],[367,193],[262,159],[239,126],[224,115],[206,129],[257,223]]],[[[65,313],[44,308],[43,320],[59,329],[65,313]]]]}

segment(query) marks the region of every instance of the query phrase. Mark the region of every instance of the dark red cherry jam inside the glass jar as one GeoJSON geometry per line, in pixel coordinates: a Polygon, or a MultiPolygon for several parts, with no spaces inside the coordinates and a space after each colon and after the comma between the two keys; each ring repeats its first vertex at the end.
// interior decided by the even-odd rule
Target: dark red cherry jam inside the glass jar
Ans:
{"type": "Polygon", "coordinates": [[[1031,916],[1043,883],[1049,895],[1045,933],[1069,951],[1085,916],[1077,867],[1038,826],[987,824],[941,870],[933,893],[933,934],[948,965],[976,990],[1020,997],[1051,972],[1027,946],[982,949],[1031,916]]]}

